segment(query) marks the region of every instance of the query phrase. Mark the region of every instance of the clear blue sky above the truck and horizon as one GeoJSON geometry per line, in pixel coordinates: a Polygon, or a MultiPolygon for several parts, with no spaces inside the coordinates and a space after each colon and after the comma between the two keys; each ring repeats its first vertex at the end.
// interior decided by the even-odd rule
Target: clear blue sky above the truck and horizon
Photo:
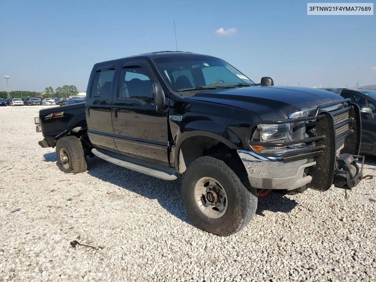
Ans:
{"type": "Polygon", "coordinates": [[[86,91],[96,62],[176,50],[173,20],[179,50],[222,58],[255,82],[376,84],[376,15],[308,16],[306,1],[1,0],[0,90],[9,75],[10,91],[86,91]]]}

